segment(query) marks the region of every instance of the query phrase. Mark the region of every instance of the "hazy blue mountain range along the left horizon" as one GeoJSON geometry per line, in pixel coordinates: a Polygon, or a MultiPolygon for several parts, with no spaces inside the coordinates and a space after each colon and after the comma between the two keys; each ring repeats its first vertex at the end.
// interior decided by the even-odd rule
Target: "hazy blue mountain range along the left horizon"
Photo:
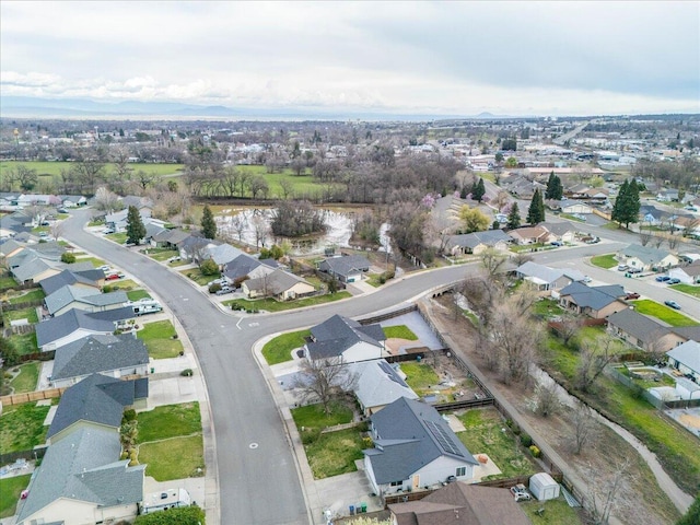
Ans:
{"type": "MultiPolygon", "coordinates": [[[[323,119],[323,120],[454,120],[527,118],[481,113],[476,116],[436,114],[395,114],[372,110],[332,110],[287,107],[250,108],[202,106],[177,102],[97,102],[88,98],[36,98],[0,95],[0,117],[15,118],[222,118],[222,119],[323,119]]],[[[532,117],[530,117],[532,118],[532,117]]]]}

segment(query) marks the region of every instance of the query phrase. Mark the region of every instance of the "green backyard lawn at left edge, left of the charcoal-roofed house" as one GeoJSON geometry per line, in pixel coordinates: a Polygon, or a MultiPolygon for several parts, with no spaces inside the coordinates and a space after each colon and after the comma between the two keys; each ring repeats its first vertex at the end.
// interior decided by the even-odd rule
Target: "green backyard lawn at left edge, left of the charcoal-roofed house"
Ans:
{"type": "Polygon", "coordinates": [[[50,407],[24,402],[3,407],[0,417],[0,454],[30,451],[46,441],[44,420],[50,407]]]}

